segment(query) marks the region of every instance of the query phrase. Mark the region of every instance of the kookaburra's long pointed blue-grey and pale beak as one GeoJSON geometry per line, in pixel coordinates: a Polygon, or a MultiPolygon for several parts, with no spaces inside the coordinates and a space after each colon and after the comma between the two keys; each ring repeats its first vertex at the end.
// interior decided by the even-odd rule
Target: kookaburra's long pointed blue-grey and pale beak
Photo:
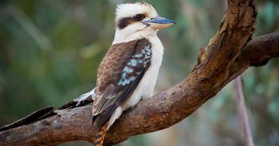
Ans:
{"type": "Polygon", "coordinates": [[[172,26],[172,24],[176,24],[171,19],[167,19],[164,17],[155,17],[150,20],[144,21],[142,23],[146,24],[147,26],[149,26],[153,29],[164,29],[169,26],[172,26]]]}

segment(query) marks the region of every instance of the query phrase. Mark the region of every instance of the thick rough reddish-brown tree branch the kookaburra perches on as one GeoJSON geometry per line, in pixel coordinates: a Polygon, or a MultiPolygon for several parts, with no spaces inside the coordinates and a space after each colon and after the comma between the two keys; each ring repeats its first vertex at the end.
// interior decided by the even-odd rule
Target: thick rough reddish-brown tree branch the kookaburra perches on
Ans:
{"type": "MultiPolygon", "coordinates": [[[[229,81],[250,66],[279,57],[279,32],[250,40],[255,30],[255,0],[229,0],[220,29],[201,49],[197,65],[178,85],[144,99],[121,115],[108,131],[104,145],[130,136],[171,127],[195,112],[229,81]]],[[[57,145],[73,140],[92,141],[91,107],[54,111],[55,115],[0,132],[0,145],[57,145]]]]}

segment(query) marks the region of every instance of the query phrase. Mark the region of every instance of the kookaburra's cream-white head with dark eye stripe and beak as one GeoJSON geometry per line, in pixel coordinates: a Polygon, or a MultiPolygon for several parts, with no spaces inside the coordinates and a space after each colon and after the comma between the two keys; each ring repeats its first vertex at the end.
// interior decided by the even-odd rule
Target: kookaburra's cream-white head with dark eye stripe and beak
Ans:
{"type": "Polygon", "coordinates": [[[115,42],[128,42],[156,35],[159,29],[175,24],[170,19],[159,17],[149,3],[124,3],[116,8],[115,42]]]}

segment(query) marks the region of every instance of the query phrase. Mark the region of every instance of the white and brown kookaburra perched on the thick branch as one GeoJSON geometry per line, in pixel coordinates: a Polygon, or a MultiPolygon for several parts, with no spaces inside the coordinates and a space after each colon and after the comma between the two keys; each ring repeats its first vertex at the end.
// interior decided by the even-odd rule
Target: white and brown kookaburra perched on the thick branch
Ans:
{"type": "Polygon", "coordinates": [[[99,118],[95,146],[103,145],[105,133],[123,111],[151,97],[163,59],[156,34],[175,24],[145,2],[120,4],[115,14],[114,41],[98,68],[96,88],[79,99],[93,98],[93,120],[99,118]]]}

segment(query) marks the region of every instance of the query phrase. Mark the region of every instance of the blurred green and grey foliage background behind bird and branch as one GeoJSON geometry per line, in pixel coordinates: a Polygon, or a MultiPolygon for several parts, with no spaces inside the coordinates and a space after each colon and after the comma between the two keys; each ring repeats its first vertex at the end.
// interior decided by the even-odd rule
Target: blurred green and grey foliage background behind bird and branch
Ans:
{"type": "MultiPolygon", "coordinates": [[[[0,1],[0,125],[91,90],[114,39],[117,3],[133,1],[0,1]]],[[[214,35],[225,1],[146,1],[177,24],[158,33],[165,46],[156,92],[179,83],[214,35]]],[[[258,2],[255,36],[279,30],[279,3],[258,2]]],[[[279,145],[279,67],[273,59],[243,76],[257,146],[279,145]]],[[[229,84],[174,127],[135,136],[126,145],[244,145],[229,84]]],[[[91,117],[91,115],[89,115],[91,117]]],[[[63,145],[77,145],[66,143],[63,145]]],[[[79,143],[78,145],[90,145],[79,143]]]]}

